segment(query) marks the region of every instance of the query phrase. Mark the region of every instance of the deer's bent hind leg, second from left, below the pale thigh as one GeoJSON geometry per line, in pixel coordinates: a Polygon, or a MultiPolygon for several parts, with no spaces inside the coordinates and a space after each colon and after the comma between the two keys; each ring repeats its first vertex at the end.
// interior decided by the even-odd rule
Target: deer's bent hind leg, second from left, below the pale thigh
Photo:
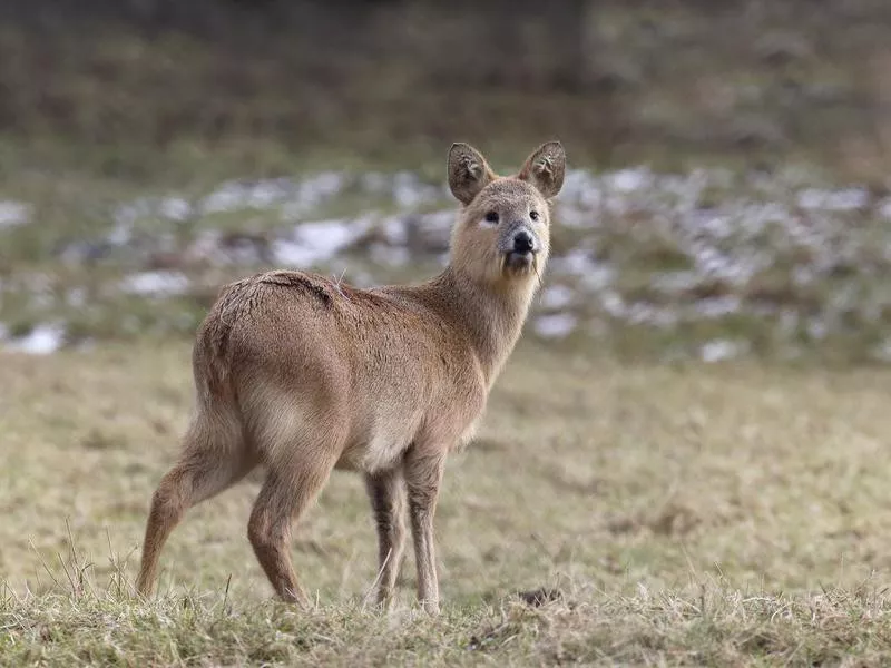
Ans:
{"type": "Polygon", "coordinates": [[[257,561],[278,597],[307,607],[310,601],[291,563],[292,525],[319,495],[334,466],[333,458],[312,458],[271,469],[260,491],[247,536],[257,561]]]}

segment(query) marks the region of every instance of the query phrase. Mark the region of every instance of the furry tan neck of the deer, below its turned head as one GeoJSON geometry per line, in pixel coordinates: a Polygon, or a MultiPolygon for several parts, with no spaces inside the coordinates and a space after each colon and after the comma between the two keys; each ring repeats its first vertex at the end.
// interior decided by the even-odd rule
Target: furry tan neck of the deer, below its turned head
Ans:
{"type": "Polygon", "coordinates": [[[481,283],[453,265],[431,282],[441,315],[467,334],[490,386],[522,332],[537,283],[536,277],[481,283]]]}

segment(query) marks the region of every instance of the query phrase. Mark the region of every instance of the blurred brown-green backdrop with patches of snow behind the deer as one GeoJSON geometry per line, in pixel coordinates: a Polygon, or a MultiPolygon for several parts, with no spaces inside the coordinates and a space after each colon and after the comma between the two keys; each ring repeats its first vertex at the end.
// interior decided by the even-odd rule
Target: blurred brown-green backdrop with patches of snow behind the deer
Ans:
{"type": "Polygon", "coordinates": [[[446,261],[456,140],[571,170],[529,336],[891,358],[883,0],[4,0],[0,345],[192,336],[226,281],[446,261]]]}

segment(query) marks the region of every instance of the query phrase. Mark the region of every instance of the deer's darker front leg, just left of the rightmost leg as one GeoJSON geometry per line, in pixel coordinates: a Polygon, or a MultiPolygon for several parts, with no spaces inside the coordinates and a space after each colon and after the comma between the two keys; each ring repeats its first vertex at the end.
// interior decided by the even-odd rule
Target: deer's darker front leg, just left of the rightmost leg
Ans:
{"type": "Polygon", "coordinates": [[[405,491],[401,469],[365,475],[365,489],[378,528],[376,602],[381,606],[393,596],[405,556],[405,491]]]}

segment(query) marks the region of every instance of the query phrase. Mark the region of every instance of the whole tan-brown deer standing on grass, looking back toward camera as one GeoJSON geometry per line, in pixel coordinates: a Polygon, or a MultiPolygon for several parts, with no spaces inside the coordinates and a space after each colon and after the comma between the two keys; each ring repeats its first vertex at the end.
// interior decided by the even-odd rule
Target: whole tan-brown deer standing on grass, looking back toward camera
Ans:
{"type": "Polygon", "coordinates": [[[552,141],[497,176],[467,144],[449,151],[460,203],[448,266],[418,285],[359,289],[275,271],[227,285],[193,351],[196,411],[151,501],[138,590],[185,511],[263,464],[247,534],[276,593],[306,603],[292,525],[333,469],[364,475],[388,601],[408,515],[423,608],[439,610],[433,513],[448,453],[467,442],[513,348],[548,257],[550,199],[566,157],[552,141]]]}

